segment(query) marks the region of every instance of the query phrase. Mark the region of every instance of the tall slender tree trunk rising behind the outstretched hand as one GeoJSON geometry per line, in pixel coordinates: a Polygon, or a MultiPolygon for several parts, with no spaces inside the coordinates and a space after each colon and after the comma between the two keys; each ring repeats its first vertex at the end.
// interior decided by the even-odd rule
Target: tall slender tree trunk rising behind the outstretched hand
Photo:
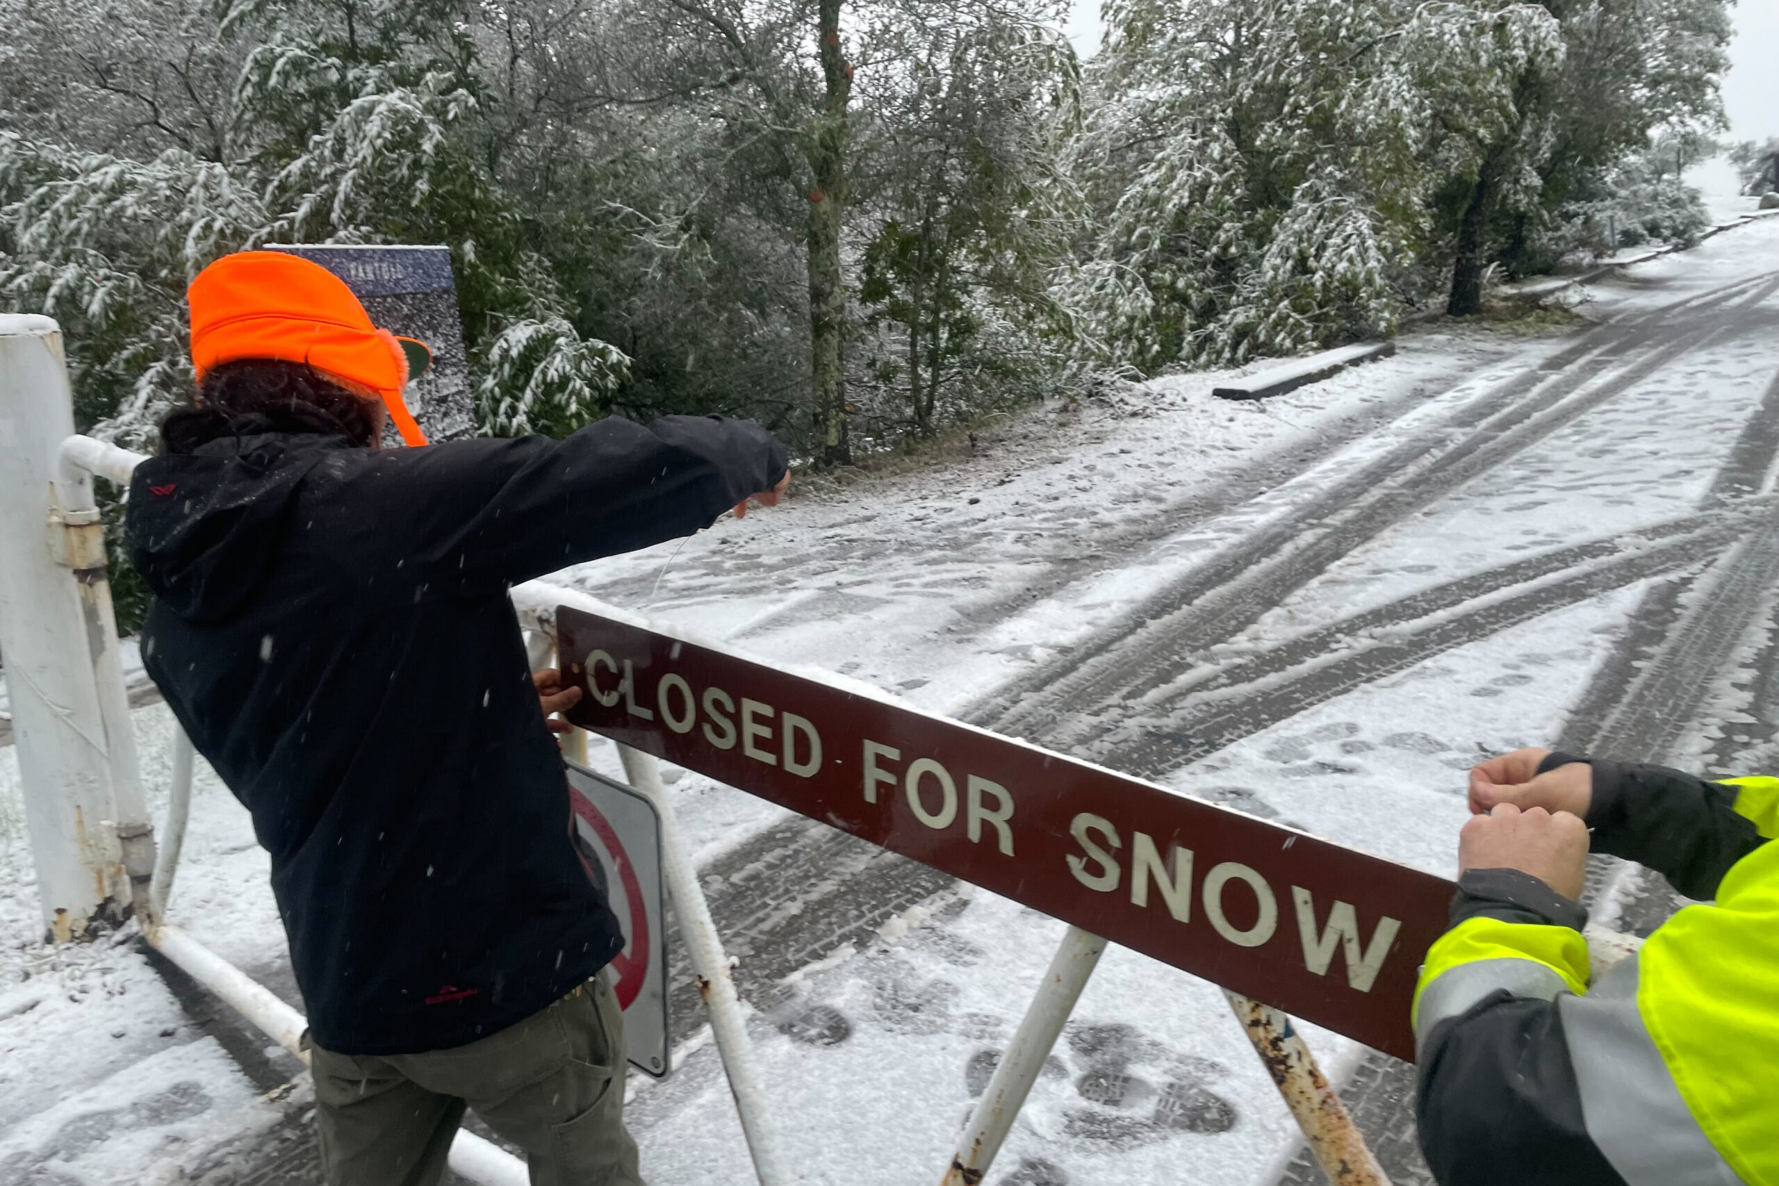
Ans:
{"type": "Polygon", "coordinates": [[[847,284],[840,268],[852,66],[840,52],[840,7],[841,0],[820,0],[817,5],[825,94],[806,148],[815,172],[815,187],[809,190],[809,347],[817,461],[824,466],[852,462],[852,445],[847,439],[847,284]]]}

